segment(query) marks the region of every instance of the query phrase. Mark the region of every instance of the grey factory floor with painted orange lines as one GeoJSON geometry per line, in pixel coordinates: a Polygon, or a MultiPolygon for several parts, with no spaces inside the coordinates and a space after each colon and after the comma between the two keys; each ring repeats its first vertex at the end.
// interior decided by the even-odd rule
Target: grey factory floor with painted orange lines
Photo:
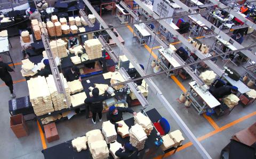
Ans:
{"type": "MultiPolygon", "coordinates": [[[[106,20],[108,24],[113,24],[113,26],[119,25],[119,20],[114,18],[114,15],[104,15],[103,19],[106,20]]],[[[152,38],[149,46],[139,46],[138,40],[132,37],[132,27],[122,27],[117,28],[119,34],[125,40],[125,46],[134,55],[135,60],[138,63],[145,66],[145,71],[147,74],[153,73],[153,68],[151,68],[150,63],[158,55],[157,48],[153,49],[150,55],[151,47],[153,45],[154,38],[152,38]]],[[[212,44],[213,38],[201,39],[202,41],[207,41],[206,44],[212,44]]],[[[12,48],[10,49],[12,58],[15,63],[15,72],[12,72],[12,78],[14,81],[14,92],[18,97],[23,97],[29,95],[26,80],[21,76],[21,47],[19,37],[10,38],[12,48]]],[[[255,43],[255,39],[247,36],[244,40],[243,45],[249,46],[251,43],[255,43]]],[[[154,47],[159,46],[156,42],[154,47]]],[[[180,47],[181,44],[175,44],[175,47],[180,47]]],[[[117,55],[122,55],[118,47],[113,47],[117,55]]],[[[9,62],[10,58],[2,55],[4,62],[9,62]]],[[[223,63],[221,59],[218,59],[217,64],[222,67],[223,63]]],[[[243,73],[244,70],[242,66],[235,66],[228,63],[231,68],[236,69],[239,73],[243,73]]],[[[234,133],[241,131],[249,127],[256,121],[256,107],[255,103],[243,106],[241,104],[237,105],[234,110],[225,116],[217,118],[213,115],[207,117],[205,115],[198,115],[197,111],[193,106],[190,108],[185,108],[183,104],[177,102],[177,98],[183,92],[188,89],[188,82],[191,79],[182,81],[179,77],[166,77],[165,74],[151,78],[159,90],[162,91],[163,95],[172,105],[174,110],[179,114],[181,119],[186,123],[188,128],[201,142],[206,151],[210,154],[212,158],[219,158],[221,149],[225,147],[234,133]]],[[[10,114],[8,110],[8,101],[10,98],[10,92],[8,87],[0,81],[0,95],[2,96],[0,101],[0,155],[1,158],[44,158],[41,150],[46,147],[51,147],[67,140],[73,139],[78,136],[85,135],[87,131],[92,129],[99,129],[101,127],[100,122],[97,124],[92,124],[91,119],[86,119],[84,115],[76,115],[70,120],[65,120],[57,123],[57,129],[59,132],[60,139],[53,141],[52,143],[47,143],[44,138],[44,134],[39,131],[37,122],[29,121],[29,136],[17,138],[10,128],[10,114]]],[[[149,90],[148,102],[150,106],[147,110],[151,108],[156,108],[157,111],[166,118],[170,125],[171,131],[181,128],[174,121],[171,114],[168,113],[166,108],[158,101],[157,97],[149,90]]],[[[132,107],[134,111],[139,111],[141,106],[132,107]]],[[[124,119],[131,118],[131,114],[124,114],[124,119]]],[[[103,120],[106,121],[106,114],[103,115],[103,120]]],[[[166,154],[166,158],[202,158],[197,152],[196,148],[191,144],[188,137],[183,132],[185,141],[183,141],[183,146],[178,149],[175,154],[166,154]]]]}

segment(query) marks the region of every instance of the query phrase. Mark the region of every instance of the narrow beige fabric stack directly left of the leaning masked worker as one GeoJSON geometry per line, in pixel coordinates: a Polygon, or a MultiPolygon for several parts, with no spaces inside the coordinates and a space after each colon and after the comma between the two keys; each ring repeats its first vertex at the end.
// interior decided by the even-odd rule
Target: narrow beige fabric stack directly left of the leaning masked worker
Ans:
{"type": "Polygon", "coordinates": [[[117,139],[115,125],[109,120],[102,123],[102,134],[107,144],[113,143],[117,139]]]}

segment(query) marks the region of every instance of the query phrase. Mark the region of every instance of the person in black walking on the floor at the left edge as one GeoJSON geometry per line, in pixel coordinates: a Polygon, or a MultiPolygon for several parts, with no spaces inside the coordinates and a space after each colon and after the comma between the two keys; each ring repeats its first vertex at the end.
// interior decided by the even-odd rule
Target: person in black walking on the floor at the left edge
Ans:
{"type": "Polygon", "coordinates": [[[14,70],[9,65],[4,63],[2,57],[0,56],[0,78],[5,82],[5,85],[9,87],[11,97],[15,98],[16,95],[13,93],[12,77],[9,72],[14,72],[14,70]]]}

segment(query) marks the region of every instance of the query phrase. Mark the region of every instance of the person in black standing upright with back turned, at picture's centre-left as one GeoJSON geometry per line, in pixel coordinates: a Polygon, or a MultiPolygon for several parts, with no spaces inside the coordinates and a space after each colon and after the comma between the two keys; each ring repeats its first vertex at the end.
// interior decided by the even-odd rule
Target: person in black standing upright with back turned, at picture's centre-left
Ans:
{"type": "MultiPolygon", "coordinates": [[[[90,107],[90,110],[92,112],[92,122],[93,124],[96,124],[96,115],[98,113],[99,121],[101,122],[102,118],[102,102],[107,98],[108,93],[105,90],[105,93],[103,96],[99,95],[100,91],[98,88],[94,88],[92,90],[92,97],[88,97],[85,99],[84,103],[90,107]]],[[[89,111],[89,110],[88,110],[89,111]]]]}

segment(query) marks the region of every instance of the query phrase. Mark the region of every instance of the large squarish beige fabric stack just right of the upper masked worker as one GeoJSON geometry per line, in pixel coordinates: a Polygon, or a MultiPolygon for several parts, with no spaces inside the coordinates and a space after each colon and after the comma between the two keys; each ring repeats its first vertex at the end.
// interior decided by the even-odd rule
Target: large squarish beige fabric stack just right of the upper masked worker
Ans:
{"type": "Polygon", "coordinates": [[[90,60],[102,57],[102,45],[98,39],[86,40],[84,47],[90,60]]]}

